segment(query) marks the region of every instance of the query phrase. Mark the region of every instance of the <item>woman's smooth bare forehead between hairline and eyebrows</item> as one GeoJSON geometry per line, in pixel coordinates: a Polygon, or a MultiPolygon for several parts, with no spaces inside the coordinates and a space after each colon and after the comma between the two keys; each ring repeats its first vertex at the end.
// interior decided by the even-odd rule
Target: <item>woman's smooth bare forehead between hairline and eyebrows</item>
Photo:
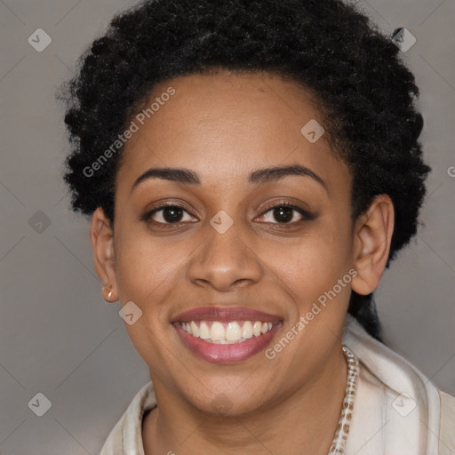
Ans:
{"type": "Polygon", "coordinates": [[[300,163],[320,175],[339,166],[324,136],[311,142],[302,133],[308,123],[323,126],[310,93],[280,76],[221,71],[174,78],[155,87],[132,121],[138,129],[119,172],[131,184],[158,166],[197,170],[203,184],[267,165],[300,163]]]}

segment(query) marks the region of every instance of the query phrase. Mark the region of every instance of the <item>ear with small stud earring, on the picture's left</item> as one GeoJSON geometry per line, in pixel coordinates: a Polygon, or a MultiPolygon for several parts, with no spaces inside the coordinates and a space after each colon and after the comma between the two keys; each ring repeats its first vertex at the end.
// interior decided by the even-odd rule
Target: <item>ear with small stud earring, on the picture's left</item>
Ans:
{"type": "Polygon", "coordinates": [[[106,301],[114,302],[118,300],[114,232],[108,217],[100,207],[93,212],[90,241],[95,270],[104,284],[101,293],[106,301]]]}

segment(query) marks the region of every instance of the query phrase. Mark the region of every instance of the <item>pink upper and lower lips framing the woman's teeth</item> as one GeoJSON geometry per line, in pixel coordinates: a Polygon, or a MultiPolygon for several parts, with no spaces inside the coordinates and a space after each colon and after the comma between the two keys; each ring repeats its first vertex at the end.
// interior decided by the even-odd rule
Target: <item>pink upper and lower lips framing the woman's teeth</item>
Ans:
{"type": "Polygon", "coordinates": [[[183,343],[196,355],[211,363],[242,362],[267,347],[276,331],[283,325],[280,316],[270,315],[246,307],[199,307],[193,308],[172,318],[172,325],[183,343]],[[274,323],[266,333],[233,344],[215,344],[190,335],[183,330],[181,323],[189,321],[261,321],[274,323]]]}

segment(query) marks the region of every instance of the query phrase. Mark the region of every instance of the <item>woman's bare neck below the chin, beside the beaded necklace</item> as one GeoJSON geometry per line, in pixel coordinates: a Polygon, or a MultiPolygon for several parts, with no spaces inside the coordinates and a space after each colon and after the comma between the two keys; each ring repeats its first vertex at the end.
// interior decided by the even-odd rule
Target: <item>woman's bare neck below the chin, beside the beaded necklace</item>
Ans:
{"type": "Polygon", "coordinates": [[[311,384],[280,396],[266,410],[234,417],[188,409],[180,400],[172,400],[171,392],[154,380],[158,403],[162,401],[165,407],[158,405],[144,419],[145,454],[225,455],[240,450],[251,455],[327,455],[346,387],[347,364],[340,345],[326,365],[311,384]]]}

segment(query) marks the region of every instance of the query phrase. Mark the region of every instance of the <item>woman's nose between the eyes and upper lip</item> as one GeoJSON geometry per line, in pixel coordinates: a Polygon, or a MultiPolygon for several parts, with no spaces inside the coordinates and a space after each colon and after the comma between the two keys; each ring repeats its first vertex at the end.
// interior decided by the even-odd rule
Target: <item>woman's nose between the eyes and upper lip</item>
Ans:
{"type": "Polygon", "coordinates": [[[249,244],[234,223],[224,234],[208,225],[208,234],[188,265],[192,283],[212,286],[217,291],[233,291],[258,283],[264,273],[254,245],[249,244]]]}

